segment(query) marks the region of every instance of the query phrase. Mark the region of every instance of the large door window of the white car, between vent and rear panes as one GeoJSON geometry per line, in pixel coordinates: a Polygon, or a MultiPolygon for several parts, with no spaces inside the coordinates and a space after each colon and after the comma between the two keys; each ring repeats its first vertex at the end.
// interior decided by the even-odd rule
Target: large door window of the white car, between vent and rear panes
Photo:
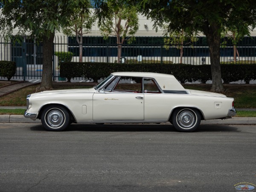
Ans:
{"type": "Polygon", "coordinates": [[[121,77],[113,90],[114,92],[142,93],[142,78],[121,77]]]}

